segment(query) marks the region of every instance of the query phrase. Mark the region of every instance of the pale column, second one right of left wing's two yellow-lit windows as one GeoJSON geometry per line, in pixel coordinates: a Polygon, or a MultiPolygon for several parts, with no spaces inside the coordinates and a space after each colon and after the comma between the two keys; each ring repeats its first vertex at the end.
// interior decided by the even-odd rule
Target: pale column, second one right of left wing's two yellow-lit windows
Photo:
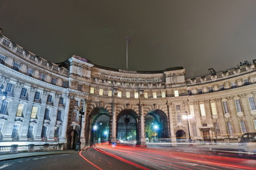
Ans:
{"type": "Polygon", "coordinates": [[[59,99],[60,95],[55,95],[54,97],[54,108],[51,111],[51,121],[49,126],[49,136],[47,137],[48,141],[54,141],[54,132],[55,132],[55,126],[56,126],[56,119],[57,119],[57,112],[58,112],[58,106],[59,106],[59,99]]]}

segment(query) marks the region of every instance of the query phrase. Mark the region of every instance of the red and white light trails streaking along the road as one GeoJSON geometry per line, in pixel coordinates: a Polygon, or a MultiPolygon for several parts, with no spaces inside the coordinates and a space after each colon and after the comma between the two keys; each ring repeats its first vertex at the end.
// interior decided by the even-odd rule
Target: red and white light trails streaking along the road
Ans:
{"type": "MultiPolygon", "coordinates": [[[[97,145],[105,152],[129,158],[149,166],[160,166],[161,169],[256,169],[256,161],[244,158],[206,155],[201,153],[177,152],[172,148],[140,148],[118,145],[97,145]],[[171,150],[172,149],[172,150],[171,150]]],[[[155,167],[156,169],[159,169],[155,167]]]]}

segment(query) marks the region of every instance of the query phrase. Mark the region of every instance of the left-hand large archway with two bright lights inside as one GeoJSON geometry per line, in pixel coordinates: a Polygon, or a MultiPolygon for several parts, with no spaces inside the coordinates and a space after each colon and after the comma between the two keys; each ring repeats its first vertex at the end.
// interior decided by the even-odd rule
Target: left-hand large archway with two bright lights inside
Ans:
{"type": "Polygon", "coordinates": [[[110,117],[109,111],[104,108],[94,108],[88,119],[89,144],[109,142],[110,117]]]}

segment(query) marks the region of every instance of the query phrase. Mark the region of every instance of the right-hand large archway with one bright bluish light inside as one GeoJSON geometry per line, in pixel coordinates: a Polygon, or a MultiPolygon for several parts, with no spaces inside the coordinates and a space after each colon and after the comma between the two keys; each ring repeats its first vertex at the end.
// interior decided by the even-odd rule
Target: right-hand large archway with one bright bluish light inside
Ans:
{"type": "Polygon", "coordinates": [[[145,134],[147,142],[168,142],[168,119],[162,110],[153,110],[145,117],[145,134]]]}

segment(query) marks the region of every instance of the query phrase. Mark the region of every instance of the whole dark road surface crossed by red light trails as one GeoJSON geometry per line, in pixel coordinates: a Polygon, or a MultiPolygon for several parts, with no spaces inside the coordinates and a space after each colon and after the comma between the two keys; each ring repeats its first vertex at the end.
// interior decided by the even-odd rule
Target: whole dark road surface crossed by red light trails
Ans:
{"type": "Polygon", "coordinates": [[[256,160],[212,155],[207,148],[96,145],[80,153],[2,161],[0,169],[256,169],[256,160]]]}

